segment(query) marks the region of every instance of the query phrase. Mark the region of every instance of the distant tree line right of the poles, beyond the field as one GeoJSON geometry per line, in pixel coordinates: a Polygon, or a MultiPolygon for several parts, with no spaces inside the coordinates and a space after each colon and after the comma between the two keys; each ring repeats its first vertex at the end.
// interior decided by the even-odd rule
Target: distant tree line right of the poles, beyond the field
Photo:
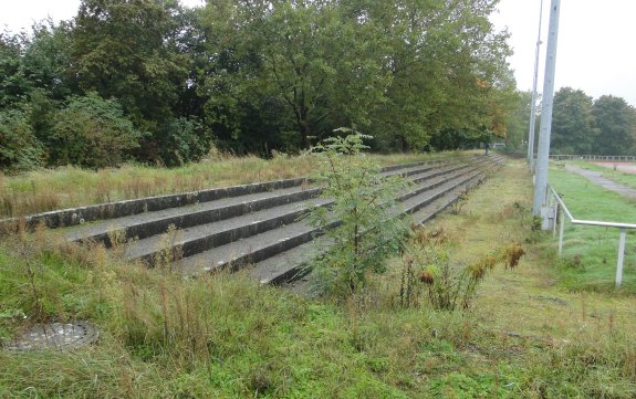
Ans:
{"type": "Polygon", "coordinates": [[[636,153],[636,109],[625,99],[612,95],[594,99],[581,90],[563,87],[554,95],[553,109],[553,154],[636,153]]]}

